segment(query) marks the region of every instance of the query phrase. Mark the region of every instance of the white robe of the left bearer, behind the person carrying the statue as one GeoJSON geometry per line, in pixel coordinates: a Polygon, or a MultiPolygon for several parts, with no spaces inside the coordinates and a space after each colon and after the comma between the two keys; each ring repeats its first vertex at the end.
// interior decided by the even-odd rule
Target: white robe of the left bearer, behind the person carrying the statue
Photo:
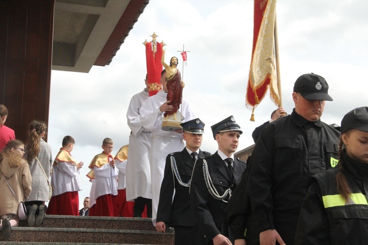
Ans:
{"type": "Polygon", "coordinates": [[[131,98],[128,107],[127,121],[131,129],[129,137],[129,154],[126,168],[127,200],[134,200],[138,196],[152,198],[150,148],[152,141],[151,131],[143,128],[139,119],[140,108],[148,98],[144,89],[131,98]]]}

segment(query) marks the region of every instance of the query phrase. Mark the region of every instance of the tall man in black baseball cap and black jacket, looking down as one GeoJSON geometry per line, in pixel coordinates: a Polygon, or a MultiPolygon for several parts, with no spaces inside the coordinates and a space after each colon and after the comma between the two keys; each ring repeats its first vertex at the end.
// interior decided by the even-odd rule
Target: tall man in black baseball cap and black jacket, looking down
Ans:
{"type": "Polygon", "coordinates": [[[326,80],[314,73],[304,74],[295,81],[293,91],[291,115],[262,130],[252,152],[249,181],[238,187],[247,185],[252,204],[248,245],[294,244],[309,177],[338,162],[340,132],[320,121],[325,100],[332,101],[326,80]]]}

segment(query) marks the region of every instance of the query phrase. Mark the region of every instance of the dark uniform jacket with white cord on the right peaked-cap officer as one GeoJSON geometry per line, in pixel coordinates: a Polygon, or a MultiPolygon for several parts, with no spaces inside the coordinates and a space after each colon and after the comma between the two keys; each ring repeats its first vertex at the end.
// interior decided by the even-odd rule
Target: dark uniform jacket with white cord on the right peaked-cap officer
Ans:
{"type": "MultiPolygon", "coordinates": [[[[218,234],[232,239],[227,225],[227,203],[222,200],[217,200],[210,195],[203,174],[204,160],[207,161],[210,178],[219,196],[222,196],[229,187],[234,191],[240,181],[242,173],[246,169],[245,162],[237,158],[234,159],[233,177],[226,163],[221,159],[217,151],[211,157],[205,159],[199,158],[197,160],[193,170],[189,195],[190,207],[194,212],[197,225],[200,229],[196,244],[211,243],[212,238],[218,234]]],[[[229,195],[226,196],[225,200],[227,201],[228,199],[229,195]]]]}

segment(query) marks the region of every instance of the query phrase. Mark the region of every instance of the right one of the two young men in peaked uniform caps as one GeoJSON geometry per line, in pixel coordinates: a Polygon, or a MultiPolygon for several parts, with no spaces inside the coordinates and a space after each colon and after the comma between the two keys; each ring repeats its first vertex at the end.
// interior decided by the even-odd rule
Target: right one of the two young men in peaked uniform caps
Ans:
{"type": "Polygon", "coordinates": [[[230,116],[211,126],[218,150],[210,157],[200,157],[190,184],[190,208],[198,225],[195,244],[232,244],[226,221],[226,206],[231,192],[240,181],[246,163],[234,159],[240,126],[230,116]]]}

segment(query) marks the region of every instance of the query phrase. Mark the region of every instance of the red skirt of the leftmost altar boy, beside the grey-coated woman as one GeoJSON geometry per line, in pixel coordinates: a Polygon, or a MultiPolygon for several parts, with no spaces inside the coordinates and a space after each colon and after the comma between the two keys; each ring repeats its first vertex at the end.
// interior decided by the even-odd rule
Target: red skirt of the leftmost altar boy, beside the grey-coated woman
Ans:
{"type": "Polygon", "coordinates": [[[46,214],[79,216],[78,192],[66,192],[57,196],[52,196],[46,214]]]}

